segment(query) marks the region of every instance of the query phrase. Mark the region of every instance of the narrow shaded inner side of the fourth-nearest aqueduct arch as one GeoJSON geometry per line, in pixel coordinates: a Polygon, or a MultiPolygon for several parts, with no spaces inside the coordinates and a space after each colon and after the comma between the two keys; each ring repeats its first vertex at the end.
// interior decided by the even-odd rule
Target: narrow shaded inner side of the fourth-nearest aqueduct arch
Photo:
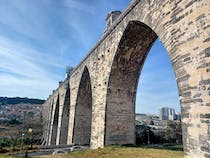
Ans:
{"type": "Polygon", "coordinates": [[[51,145],[56,145],[57,130],[58,130],[58,116],[59,116],[59,95],[55,105],[55,113],[53,117],[51,145]]]}

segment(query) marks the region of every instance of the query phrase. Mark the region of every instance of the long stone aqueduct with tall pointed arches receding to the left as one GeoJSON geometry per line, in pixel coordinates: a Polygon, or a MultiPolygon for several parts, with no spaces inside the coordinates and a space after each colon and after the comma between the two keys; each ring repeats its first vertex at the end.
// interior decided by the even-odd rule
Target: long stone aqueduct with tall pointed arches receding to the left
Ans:
{"type": "Polygon", "coordinates": [[[44,103],[45,144],[135,144],[138,79],[157,38],[176,76],[185,155],[209,158],[209,0],[133,0],[44,103]]]}

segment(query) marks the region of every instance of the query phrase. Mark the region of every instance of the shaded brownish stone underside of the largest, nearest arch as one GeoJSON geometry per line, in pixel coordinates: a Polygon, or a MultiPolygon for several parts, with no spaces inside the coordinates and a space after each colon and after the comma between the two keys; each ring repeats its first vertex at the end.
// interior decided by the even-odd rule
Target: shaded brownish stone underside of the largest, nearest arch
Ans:
{"type": "Polygon", "coordinates": [[[136,144],[137,85],[144,61],[157,38],[150,27],[137,21],[131,21],[124,31],[109,76],[105,145],[136,144]]]}

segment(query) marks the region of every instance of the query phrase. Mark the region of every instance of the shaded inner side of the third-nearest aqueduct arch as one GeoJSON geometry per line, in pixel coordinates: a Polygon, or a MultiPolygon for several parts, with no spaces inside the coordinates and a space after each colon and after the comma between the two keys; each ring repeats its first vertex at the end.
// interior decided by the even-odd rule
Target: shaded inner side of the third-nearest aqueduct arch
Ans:
{"type": "Polygon", "coordinates": [[[61,132],[60,132],[60,140],[59,144],[67,144],[68,138],[68,127],[69,127],[69,110],[70,110],[70,89],[67,86],[64,105],[63,105],[63,112],[61,117],[61,132]]]}

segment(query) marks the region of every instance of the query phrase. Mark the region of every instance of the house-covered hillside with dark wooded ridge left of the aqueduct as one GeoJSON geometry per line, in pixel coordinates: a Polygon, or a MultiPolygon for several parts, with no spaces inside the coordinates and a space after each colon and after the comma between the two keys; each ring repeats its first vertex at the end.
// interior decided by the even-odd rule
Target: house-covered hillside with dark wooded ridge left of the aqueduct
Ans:
{"type": "Polygon", "coordinates": [[[19,140],[23,133],[27,137],[28,129],[31,128],[34,143],[40,143],[43,132],[42,104],[44,101],[21,97],[0,97],[0,142],[4,139],[19,140]]]}

